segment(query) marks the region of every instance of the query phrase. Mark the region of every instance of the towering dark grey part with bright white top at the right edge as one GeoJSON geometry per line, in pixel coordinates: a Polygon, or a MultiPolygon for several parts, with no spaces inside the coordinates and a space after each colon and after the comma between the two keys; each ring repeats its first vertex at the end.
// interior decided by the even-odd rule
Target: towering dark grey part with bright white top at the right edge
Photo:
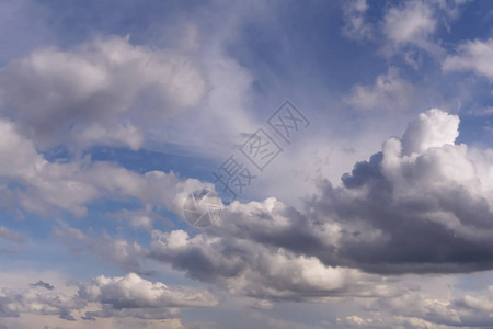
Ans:
{"type": "Polygon", "coordinates": [[[343,188],[329,184],[310,206],[341,234],[320,259],[380,273],[491,269],[492,162],[454,144],[458,124],[431,110],[357,163],[343,188]]]}

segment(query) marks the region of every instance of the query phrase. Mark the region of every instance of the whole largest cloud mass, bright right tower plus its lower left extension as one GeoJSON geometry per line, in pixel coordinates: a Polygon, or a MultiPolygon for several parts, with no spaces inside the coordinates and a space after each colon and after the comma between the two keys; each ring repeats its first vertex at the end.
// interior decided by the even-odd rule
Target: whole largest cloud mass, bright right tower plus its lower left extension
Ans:
{"type": "Polygon", "coordinates": [[[356,163],[343,185],[322,183],[300,212],[275,198],[233,202],[194,237],[152,232],[148,257],[257,298],[399,295],[394,273],[493,268],[493,166],[456,145],[459,118],[421,114],[356,163]]]}

